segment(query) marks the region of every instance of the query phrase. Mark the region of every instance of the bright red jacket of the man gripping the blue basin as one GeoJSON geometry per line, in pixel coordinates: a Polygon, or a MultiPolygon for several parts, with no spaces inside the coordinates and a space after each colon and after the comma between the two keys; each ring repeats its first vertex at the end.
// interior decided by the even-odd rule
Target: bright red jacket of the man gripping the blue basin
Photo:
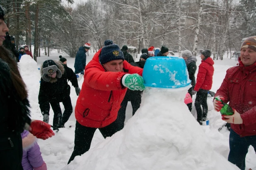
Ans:
{"type": "Polygon", "coordinates": [[[101,49],[85,67],[82,90],[75,106],[75,118],[86,127],[105,127],[117,118],[121,102],[127,88],[121,85],[121,78],[126,73],[138,73],[142,76],[142,68],[123,61],[126,72],[106,72],[99,63],[101,49]]]}

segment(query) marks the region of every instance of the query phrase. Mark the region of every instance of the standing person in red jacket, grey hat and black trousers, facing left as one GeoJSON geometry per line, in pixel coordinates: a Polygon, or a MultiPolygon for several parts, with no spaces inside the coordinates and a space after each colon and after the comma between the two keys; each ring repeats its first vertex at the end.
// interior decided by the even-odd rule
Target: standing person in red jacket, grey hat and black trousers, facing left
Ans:
{"type": "Polygon", "coordinates": [[[214,61],[210,57],[210,50],[203,50],[201,52],[202,63],[199,65],[198,74],[196,78],[196,85],[192,94],[196,94],[195,107],[197,113],[197,121],[200,125],[203,124],[203,121],[207,118],[208,105],[207,105],[207,95],[208,91],[212,88],[213,85],[213,64],[214,61]],[[203,111],[201,109],[201,105],[203,111]]]}

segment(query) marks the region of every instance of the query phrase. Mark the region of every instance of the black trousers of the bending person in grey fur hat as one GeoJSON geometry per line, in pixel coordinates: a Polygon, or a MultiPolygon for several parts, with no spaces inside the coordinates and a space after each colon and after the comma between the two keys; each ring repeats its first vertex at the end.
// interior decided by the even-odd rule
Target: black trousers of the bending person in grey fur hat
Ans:
{"type": "Polygon", "coordinates": [[[64,127],[65,123],[68,121],[68,119],[70,118],[72,112],[73,112],[73,108],[72,108],[72,103],[71,103],[71,99],[70,96],[66,97],[63,99],[62,101],[65,111],[61,112],[60,109],[60,103],[59,102],[51,102],[51,108],[53,109],[53,126],[55,127],[64,127]]]}

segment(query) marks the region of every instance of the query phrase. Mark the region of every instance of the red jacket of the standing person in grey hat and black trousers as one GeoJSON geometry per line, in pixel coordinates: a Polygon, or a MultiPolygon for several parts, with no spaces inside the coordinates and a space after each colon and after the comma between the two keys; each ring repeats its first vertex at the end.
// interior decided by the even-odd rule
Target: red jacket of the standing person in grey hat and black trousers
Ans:
{"type": "Polygon", "coordinates": [[[213,85],[213,59],[208,57],[205,60],[201,61],[199,65],[198,74],[196,78],[196,85],[194,90],[198,91],[199,89],[211,90],[213,85]]]}

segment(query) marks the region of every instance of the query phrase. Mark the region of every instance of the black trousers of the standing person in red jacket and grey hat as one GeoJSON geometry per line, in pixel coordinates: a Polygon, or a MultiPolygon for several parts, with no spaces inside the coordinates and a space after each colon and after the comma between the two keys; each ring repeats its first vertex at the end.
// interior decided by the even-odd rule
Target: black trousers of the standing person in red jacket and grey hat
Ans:
{"type": "Polygon", "coordinates": [[[208,113],[208,105],[207,105],[207,95],[208,90],[200,89],[196,93],[196,101],[195,101],[195,107],[196,107],[196,113],[197,113],[197,121],[200,125],[202,125],[203,121],[207,118],[208,113]],[[201,105],[203,108],[203,111],[201,109],[201,105]]]}

